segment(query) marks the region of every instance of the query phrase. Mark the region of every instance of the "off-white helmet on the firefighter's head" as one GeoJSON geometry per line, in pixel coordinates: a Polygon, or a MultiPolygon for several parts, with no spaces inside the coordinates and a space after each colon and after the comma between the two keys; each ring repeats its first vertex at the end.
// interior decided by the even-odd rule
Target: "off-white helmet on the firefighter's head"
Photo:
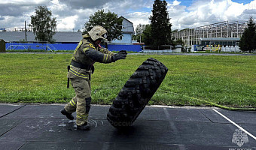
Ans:
{"type": "Polygon", "coordinates": [[[107,30],[102,26],[94,26],[90,31],[88,31],[88,34],[90,34],[90,37],[93,40],[106,40],[107,38],[107,30]]]}

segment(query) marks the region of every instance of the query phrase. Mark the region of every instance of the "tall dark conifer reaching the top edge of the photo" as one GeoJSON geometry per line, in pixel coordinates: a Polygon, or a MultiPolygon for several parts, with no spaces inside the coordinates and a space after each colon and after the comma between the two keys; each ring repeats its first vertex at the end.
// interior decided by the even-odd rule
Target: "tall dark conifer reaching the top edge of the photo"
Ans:
{"type": "Polygon", "coordinates": [[[152,10],[151,20],[151,34],[154,46],[166,45],[172,43],[171,27],[169,23],[169,14],[167,12],[166,1],[155,0],[152,10]]]}

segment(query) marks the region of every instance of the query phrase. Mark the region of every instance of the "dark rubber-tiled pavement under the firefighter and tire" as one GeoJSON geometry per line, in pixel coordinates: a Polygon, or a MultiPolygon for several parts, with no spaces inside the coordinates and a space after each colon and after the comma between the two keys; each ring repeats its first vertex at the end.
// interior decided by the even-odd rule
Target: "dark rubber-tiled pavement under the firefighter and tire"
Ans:
{"type": "Polygon", "coordinates": [[[211,107],[146,107],[129,130],[106,120],[109,106],[93,105],[91,130],[59,113],[63,104],[0,104],[0,149],[256,149],[256,113],[211,107]],[[226,118],[225,118],[226,117],[226,118]],[[237,125],[237,126],[236,126],[237,125]],[[233,134],[247,131],[244,143],[233,134]],[[248,140],[246,139],[248,138],[248,140]]]}

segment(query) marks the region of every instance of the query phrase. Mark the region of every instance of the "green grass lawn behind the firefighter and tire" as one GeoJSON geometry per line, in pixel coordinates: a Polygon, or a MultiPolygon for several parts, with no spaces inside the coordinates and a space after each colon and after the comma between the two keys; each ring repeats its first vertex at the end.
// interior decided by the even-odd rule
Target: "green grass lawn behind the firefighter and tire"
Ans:
{"type": "MultiPolygon", "coordinates": [[[[67,103],[71,54],[0,54],[0,103],[67,103]]],[[[96,63],[93,104],[111,104],[124,83],[147,58],[156,58],[168,74],[149,104],[256,107],[254,55],[128,55],[111,64],[96,63]]]]}

